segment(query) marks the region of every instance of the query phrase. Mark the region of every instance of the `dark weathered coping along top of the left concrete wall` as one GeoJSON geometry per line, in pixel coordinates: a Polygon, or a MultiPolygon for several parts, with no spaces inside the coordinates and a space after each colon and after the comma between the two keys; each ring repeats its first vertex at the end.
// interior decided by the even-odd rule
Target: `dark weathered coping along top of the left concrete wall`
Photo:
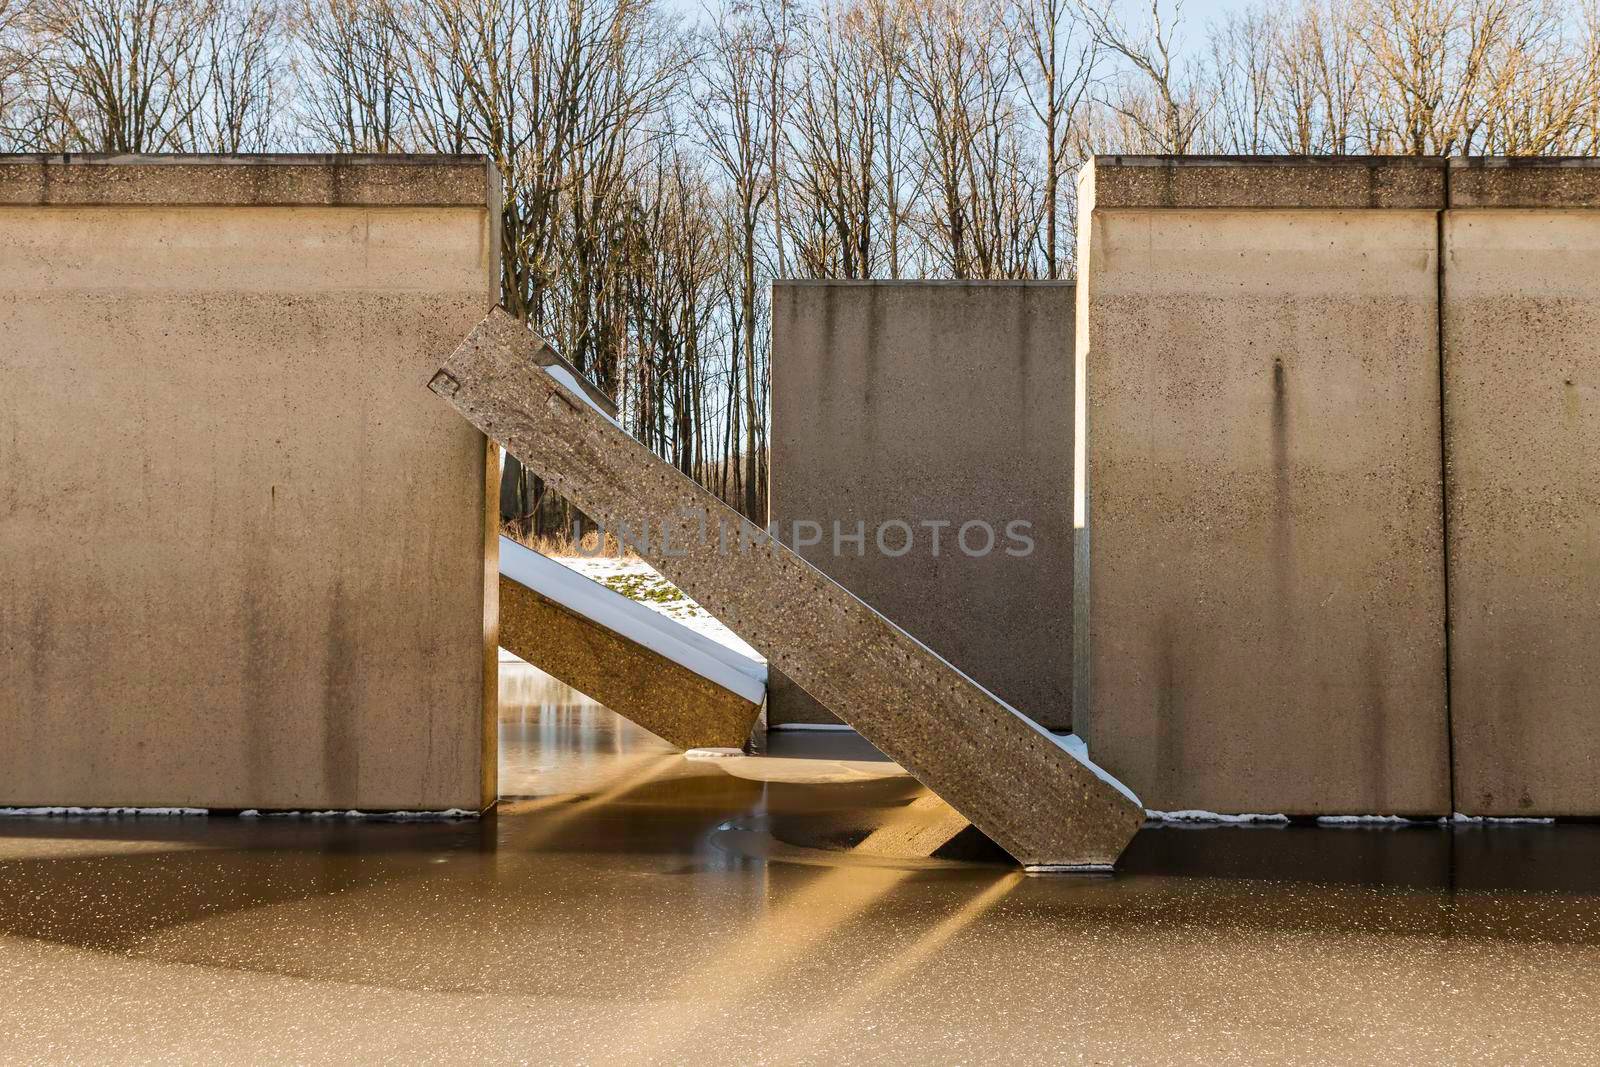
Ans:
{"type": "Polygon", "coordinates": [[[0,205],[491,206],[483,155],[10,155],[0,205]]]}

